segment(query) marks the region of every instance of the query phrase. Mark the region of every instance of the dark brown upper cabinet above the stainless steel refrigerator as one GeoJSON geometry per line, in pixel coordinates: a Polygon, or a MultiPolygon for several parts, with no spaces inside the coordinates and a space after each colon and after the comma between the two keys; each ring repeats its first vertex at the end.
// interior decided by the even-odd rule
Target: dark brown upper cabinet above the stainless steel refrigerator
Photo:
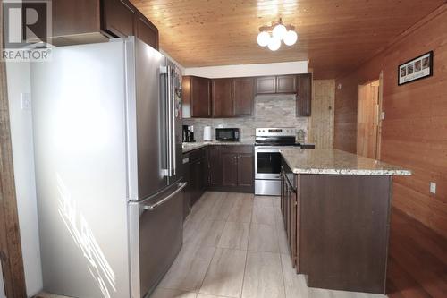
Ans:
{"type": "Polygon", "coordinates": [[[128,0],[53,0],[52,21],[52,36],[40,38],[55,46],[136,36],[158,49],[156,26],[128,0]]]}

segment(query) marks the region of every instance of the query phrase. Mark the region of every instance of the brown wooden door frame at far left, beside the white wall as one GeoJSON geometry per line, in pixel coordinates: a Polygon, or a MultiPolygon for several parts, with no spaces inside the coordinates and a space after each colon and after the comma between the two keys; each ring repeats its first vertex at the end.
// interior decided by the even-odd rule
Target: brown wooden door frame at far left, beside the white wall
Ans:
{"type": "MultiPolygon", "coordinates": [[[[3,50],[3,5],[0,5],[0,50],[3,50]]],[[[0,261],[8,298],[27,297],[9,118],[6,65],[0,62],[0,261]]]]}

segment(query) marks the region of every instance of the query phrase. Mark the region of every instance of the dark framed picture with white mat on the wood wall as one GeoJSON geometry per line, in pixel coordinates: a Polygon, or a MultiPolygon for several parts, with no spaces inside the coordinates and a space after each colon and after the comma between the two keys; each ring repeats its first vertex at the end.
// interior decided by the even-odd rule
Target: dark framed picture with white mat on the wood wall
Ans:
{"type": "Polygon", "coordinates": [[[397,70],[398,85],[417,81],[433,75],[433,51],[399,65],[397,70]]]}

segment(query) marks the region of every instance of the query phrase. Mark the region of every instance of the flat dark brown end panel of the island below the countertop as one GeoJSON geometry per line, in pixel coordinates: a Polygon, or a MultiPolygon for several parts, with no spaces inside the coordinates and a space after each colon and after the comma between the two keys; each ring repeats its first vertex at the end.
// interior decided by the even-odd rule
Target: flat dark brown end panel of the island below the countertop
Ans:
{"type": "Polygon", "coordinates": [[[299,192],[308,286],[384,294],[392,177],[300,175],[299,192]]]}

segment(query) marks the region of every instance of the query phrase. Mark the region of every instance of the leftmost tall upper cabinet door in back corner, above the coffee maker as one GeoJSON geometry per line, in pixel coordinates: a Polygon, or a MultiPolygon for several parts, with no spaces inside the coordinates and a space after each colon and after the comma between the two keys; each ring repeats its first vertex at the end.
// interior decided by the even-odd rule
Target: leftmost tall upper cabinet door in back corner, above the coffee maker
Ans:
{"type": "Polygon", "coordinates": [[[211,81],[206,78],[191,77],[191,117],[211,117],[211,81]]]}

